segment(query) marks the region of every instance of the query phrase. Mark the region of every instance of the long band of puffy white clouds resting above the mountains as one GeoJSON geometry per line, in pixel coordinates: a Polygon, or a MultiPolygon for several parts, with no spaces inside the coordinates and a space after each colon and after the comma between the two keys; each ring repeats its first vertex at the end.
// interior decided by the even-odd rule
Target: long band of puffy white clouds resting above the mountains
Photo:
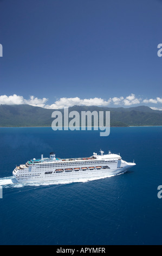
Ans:
{"type": "MultiPolygon", "coordinates": [[[[53,104],[47,105],[48,99],[43,97],[42,99],[38,99],[38,97],[30,96],[29,99],[24,99],[23,96],[19,95],[0,95],[0,105],[22,105],[28,104],[31,106],[49,108],[49,109],[61,109],[64,107],[73,107],[77,106],[132,106],[139,105],[141,103],[154,103],[160,104],[162,103],[162,98],[157,97],[156,99],[144,99],[135,96],[135,94],[131,94],[127,97],[110,97],[108,100],[102,99],[101,97],[94,97],[90,99],[80,99],[80,97],[62,97],[56,100],[53,104]]],[[[152,107],[152,109],[160,109],[152,107]]]]}

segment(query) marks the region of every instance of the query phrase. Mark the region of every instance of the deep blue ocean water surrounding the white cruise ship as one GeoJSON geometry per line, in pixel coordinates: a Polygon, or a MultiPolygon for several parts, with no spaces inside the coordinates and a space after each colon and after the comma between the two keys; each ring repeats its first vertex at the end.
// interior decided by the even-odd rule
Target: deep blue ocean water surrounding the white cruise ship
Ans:
{"type": "Polygon", "coordinates": [[[0,129],[1,245],[161,245],[162,127],[53,131],[49,127],[0,129]],[[120,153],[137,166],[98,180],[12,184],[16,164],[49,156],[120,153]]]}

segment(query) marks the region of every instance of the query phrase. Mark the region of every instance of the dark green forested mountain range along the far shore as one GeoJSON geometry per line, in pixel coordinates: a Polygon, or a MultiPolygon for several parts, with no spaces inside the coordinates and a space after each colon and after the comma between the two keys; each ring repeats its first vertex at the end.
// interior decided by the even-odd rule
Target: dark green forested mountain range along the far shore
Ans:
{"type": "MultiPolygon", "coordinates": [[[[58,111],[58,109],[56,109],[58,111]]],[[[55,109],[46,109],[30,105],[0,105],[0,127],[51,126],[55,109]]],[[[59,109],[63,113],[63,109],[59,109]]],[[[129,108],[109,108],[96,106],[74,106],[69,112],[110,111],[111,126],[162,126],[162,111],[139,106],[129,108]]]]}

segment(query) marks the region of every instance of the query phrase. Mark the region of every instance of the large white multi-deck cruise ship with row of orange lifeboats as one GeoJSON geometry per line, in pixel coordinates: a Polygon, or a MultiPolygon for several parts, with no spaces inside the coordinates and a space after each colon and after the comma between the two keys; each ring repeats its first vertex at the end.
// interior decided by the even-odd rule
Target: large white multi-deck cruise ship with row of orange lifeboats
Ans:
{"type": "Polygon", "coordinates": [[[100,155],[93,153],[90,157],[60,159],[55,153],[50,157],[33,159],[16,166],[12,172],[17,182],[61,181],[80,178],[102,178],[105,176],[125,173],[136,164],[121,159],[120,154],[107,155],[101,150],[100,155]]]}

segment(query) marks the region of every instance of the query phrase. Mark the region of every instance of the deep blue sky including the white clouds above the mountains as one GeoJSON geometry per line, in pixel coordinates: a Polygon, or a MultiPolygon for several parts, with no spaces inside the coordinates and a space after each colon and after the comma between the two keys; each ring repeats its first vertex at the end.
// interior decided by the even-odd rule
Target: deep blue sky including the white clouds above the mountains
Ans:
{"type": "Polygon", "coordinates": [[[161,0],[0,0],[0,103],[161,108],[161,13],[161,0]]]}

